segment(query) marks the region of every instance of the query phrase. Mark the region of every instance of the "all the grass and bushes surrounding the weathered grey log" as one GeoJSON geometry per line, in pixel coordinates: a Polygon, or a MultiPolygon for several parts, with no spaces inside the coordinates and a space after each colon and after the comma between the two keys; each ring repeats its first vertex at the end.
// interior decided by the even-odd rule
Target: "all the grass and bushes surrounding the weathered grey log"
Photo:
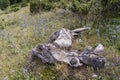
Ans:
{"type": "Polygon", "coordinates": [[[26,3],[27,0],[10,0],[2,9],[0,2],[0,80],[120,79],[119,0],[30,0],[27,6],[26,3]],[[84,25],[91,30],[82,33],[83,41],[74,43],[72,48],[83,50],[102,43],[108,61],[104,69],[72,68],[64,63],[48,65],[39,59],[27,65],[31,49],[46,42],[53,31],[84,25]],[[97,78],[92,77],[94,73],[97,78]]]}

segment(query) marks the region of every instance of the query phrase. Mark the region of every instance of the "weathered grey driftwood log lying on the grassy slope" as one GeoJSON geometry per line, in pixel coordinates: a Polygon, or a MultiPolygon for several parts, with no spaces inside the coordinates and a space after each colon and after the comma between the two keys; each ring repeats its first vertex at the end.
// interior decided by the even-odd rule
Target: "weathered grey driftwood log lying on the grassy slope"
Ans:
{"type": "Polygon", "coordinates": [[[61,29],[50,36],[45,44],[38,44],[32,49],[30,62],[33,57],[38,57],[44,63],[54,64],[56,61],[65,62],[72,67],[82,66],[84,64],[92,66],[94,69],[103,68],[106,58],[97,56],[97,53],[104,50],[102,44],[95,49],[85,48],[82,52],[71,50],[74,37],[80,32],[90,29],[89,27],[78,28],[75,30],[61,29]]]}

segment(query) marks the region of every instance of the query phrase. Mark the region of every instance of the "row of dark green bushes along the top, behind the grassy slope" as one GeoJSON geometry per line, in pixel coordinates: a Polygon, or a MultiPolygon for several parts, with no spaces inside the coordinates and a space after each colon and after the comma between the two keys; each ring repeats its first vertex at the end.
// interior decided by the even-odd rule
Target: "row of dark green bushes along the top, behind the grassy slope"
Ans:
{"type": "Polygon", "coordinates": [[[70,9],[73,12],[87,15],[119,15],[119,0],[31,0],[30,11],[33,13],[40,10],[51,10],[53,8],[70,9]]]}

